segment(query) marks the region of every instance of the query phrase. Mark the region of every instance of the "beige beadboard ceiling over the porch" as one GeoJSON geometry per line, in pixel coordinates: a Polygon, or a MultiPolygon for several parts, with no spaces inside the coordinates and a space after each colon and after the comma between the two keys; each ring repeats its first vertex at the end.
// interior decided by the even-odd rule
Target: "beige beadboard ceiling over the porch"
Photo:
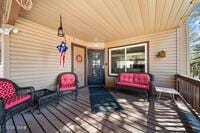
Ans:
{"type": "Polygon", "coordinates": [[[176,28],[192,0],[33,0],[21,17],[91,42],[110,42],[176,28]]]}

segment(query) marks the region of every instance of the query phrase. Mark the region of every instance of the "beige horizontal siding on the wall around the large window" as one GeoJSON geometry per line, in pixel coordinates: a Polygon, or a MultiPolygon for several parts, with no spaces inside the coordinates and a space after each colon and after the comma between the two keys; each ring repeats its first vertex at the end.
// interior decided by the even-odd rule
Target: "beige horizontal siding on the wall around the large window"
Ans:
{"type": "MultiPolygon", "coordinates": [[[[155,76],[155,85],[175,87],[175,74],[177,73],[177,32],[170,30],[156,34],[133,37],[125,40],[114,41],[105,44],[106,50],[109,47],[126,45],[131,43],[149,41],[149,72],[155,76]],[[166,51],[166,57],[158,58],[157,53],[166,51]]],[[[105,62],[108,62],[108,52],[105,52],[105,62]]],[[[108,66],[108,65],[107,65],[108,66]]],[[[114,85],[113,77],[108,76],[106,68],[106,86],[114,85]]]]}

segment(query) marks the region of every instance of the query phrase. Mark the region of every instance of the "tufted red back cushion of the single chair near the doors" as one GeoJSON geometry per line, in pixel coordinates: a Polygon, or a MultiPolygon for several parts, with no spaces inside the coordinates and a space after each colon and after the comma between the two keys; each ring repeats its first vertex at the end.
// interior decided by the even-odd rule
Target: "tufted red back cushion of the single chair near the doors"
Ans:
{"type": "Polygon", "coordinates": [[[60,80],[62,87],[66,85],[75,85],[76,77],[73,74],[63,74],[60,80]]]}

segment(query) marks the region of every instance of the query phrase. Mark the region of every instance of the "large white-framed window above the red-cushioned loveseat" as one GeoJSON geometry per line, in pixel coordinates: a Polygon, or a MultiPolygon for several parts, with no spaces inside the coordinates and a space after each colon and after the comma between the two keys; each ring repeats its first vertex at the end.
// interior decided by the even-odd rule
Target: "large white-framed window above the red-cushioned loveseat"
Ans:
{"type": "Polygon", "coordinates": [[[120,72],[147,72],[148,43],[109,48],[109,75],[120,72]]]}

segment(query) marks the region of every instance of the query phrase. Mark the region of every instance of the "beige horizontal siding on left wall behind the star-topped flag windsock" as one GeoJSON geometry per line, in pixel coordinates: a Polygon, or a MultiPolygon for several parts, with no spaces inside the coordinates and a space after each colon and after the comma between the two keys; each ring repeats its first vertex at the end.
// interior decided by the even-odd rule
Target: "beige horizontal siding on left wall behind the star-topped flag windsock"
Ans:
{"type": "Polygon", "coordinates": [[[56,30],[23,18],[17,20],[16,27],[19,33],[10,35],[9,78],[20,86],[34,86],[36,90],[53,88],[59,73],[71,71],[72,39],[67,37],[65,66],[60,68],[56,46],[62,39],[57,37],[56,30]]]}

